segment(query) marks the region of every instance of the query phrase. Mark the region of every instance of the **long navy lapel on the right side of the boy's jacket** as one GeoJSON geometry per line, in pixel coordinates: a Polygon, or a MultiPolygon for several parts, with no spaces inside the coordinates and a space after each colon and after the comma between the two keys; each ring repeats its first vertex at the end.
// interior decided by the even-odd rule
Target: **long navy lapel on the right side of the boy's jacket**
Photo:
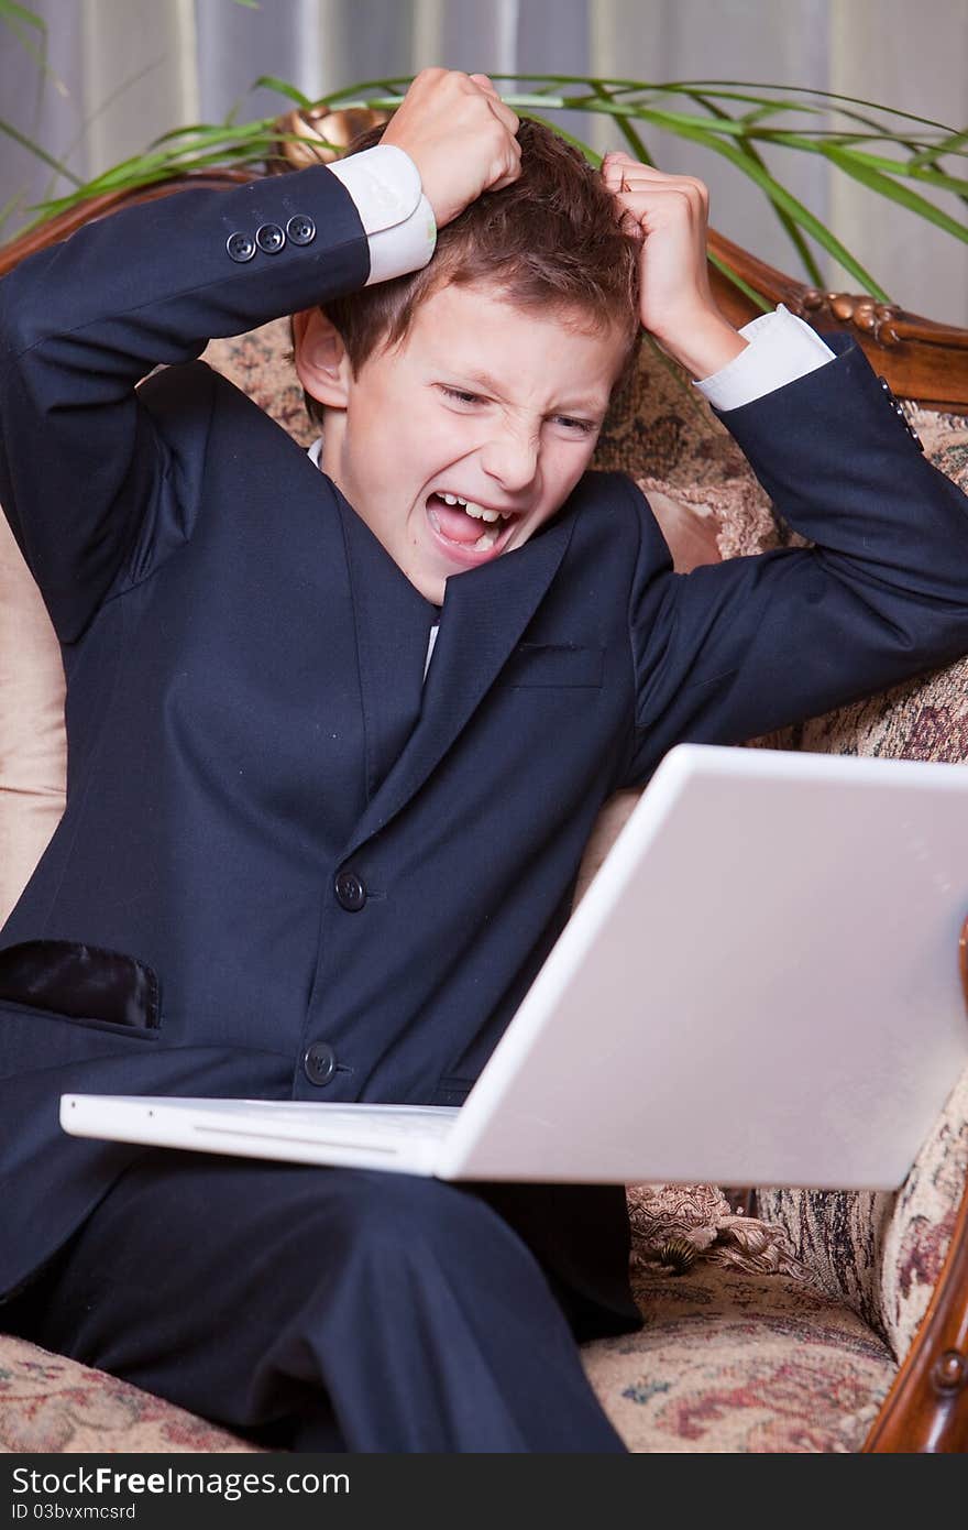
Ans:
{"type": "MultiPolygon", "coordinates": [[[[370,799],[347,855],[405,806],[460,734],[543,600],[561,563],[570,531],[572,517],[563,516],[523,548],[448,578],[440,630],[422,690],[421,719],[370,799]]],[[[391,563],[390,558],[387,562],[391,563]]],[[[411,589],[395,563],[391,568],[401,583],[411,589]]],[[[373,612],[375,623],[381,618],[385,620],[382,612],[373,612]]],[[[381,675],[372,676],[373,688],[395,684],[399,653],[384,652],[387,667],[381,675]]],[[[424,655],[421,675],[422,661],[424,655]]],[[[410,676],[407,684],[410,685],[410,676]]]]}

